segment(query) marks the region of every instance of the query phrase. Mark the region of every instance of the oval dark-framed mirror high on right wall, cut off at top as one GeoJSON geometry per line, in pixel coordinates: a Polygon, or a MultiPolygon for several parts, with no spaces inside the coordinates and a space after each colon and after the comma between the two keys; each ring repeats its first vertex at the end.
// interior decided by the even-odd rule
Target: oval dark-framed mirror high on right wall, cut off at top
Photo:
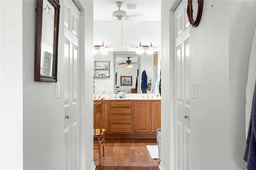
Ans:
{"type": "Polygon", "coordinates": [[[203,4],[203,0],[188,0],[187,14],[189,23],[192,27],[197,27],[201,20],[203,4]]]}

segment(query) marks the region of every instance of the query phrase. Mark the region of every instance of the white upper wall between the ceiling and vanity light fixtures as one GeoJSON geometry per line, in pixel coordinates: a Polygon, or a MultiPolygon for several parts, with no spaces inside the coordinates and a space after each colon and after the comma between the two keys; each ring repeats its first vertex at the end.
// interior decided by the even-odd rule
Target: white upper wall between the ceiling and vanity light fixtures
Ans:
{"type": "Polygon", "coordinates": [[[121,45],[120,21],[94,21],[94,45],[110,46],[110,51],[135,51],[133,46],[149,45],[161,49],[160,21],[123,21],[123,45],[121,45]]]}

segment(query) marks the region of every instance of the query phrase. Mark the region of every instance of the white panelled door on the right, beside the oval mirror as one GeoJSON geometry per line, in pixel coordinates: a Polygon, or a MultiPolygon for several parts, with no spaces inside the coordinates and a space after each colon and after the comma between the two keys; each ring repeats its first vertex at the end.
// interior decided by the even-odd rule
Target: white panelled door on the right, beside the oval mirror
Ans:
{"type": "Polygon", "coordinates": [[[175,169],[190,170],[190,43],[187,1],[174,11],[175,169]]]}

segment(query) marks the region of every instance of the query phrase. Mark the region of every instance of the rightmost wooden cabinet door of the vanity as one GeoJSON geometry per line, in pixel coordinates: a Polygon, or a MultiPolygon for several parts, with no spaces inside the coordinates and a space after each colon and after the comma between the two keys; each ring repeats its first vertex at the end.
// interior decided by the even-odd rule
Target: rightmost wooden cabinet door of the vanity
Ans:
{"type": "Polygon", "coordinates": [[[156,128],[161,128],[161,101],[151,102],[151,132],[156,132],[156,128]]]}

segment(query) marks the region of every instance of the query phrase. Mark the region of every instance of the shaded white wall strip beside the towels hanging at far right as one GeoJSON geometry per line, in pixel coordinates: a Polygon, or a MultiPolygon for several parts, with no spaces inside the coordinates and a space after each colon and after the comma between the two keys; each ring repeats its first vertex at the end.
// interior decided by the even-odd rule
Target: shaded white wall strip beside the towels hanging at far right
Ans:
{"type": "Polygon", "coordinates": [[[229,3],[230,169],[245,166],[245,84],[256,27],[255,8],[256,1],[229,3]]]}

